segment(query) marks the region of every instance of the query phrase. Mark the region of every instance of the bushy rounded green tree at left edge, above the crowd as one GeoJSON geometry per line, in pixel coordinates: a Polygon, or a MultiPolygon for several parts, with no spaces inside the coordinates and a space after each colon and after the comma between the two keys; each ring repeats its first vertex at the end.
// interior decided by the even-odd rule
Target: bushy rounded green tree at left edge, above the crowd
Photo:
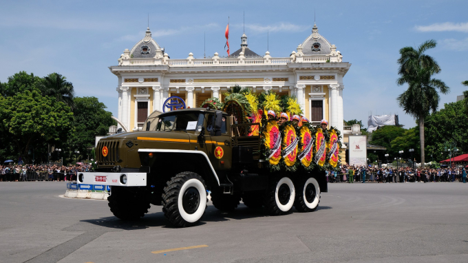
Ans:
{"type": "Polygon", "coordinates": [[[65,141],[72,132],[73,113],[55,98],[26,90],[0,97],[0,120],[1,137],[24,158],[32,145],[65,141]]]}

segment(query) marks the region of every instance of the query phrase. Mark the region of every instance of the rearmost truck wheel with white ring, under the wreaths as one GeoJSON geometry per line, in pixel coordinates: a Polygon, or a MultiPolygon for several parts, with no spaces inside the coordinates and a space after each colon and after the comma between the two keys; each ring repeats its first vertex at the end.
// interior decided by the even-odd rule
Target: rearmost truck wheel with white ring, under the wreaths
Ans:
{"type": "Polygon", "coordinates": [[[315,178],[299,180],[297,196],[294,207],[299,212],[312,212],[317,209],[320,202],[319,182],[315,178]]]}

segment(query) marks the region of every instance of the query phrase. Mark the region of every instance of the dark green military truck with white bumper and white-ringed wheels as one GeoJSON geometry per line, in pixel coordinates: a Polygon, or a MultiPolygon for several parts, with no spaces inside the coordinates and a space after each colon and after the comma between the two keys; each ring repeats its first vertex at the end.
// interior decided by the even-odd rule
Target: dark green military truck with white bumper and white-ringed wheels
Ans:
{"type": "Polygon", "coordinates": [[[151,114],[142,131],[102,138],[96,171],[79,173],[78,182],[110,185],[109,207],[117,218],[136,220],[150,204],[162,205],[175,227],[200,222],[210,193],[213,206],[265,207],[284,215],[294,206],[315,211],[327,191],[322,170],[271,172],[261,158],[261,136],[248,136],[259,123],[236,124],[216,109],[180,109],[151,114]]]}

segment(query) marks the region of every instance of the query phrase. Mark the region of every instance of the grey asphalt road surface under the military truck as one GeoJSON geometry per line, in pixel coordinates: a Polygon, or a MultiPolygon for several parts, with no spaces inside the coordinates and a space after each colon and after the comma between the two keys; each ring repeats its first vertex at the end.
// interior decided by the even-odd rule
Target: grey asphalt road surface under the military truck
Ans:
{"type": "Polygon", "coordinates": [[[0,182],[0,262],[468,262],[468,184],[329,190],[312,213],[210,202],[199,226],[174,229],[161,207],[122,222],[105,200],[59,197],[64,182],[0,182]]]}

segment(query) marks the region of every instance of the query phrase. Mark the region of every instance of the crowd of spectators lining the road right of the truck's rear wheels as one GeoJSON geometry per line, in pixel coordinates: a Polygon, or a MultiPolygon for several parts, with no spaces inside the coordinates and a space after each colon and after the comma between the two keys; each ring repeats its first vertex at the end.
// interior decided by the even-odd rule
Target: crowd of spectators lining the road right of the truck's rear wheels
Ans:
{"type": "Polygon", "coordinates": [[[397,169],[342,165],[340,168],[340,171],[326,171],[328,182],[466,182],[467,178],[465,167],[397,169]]]}

